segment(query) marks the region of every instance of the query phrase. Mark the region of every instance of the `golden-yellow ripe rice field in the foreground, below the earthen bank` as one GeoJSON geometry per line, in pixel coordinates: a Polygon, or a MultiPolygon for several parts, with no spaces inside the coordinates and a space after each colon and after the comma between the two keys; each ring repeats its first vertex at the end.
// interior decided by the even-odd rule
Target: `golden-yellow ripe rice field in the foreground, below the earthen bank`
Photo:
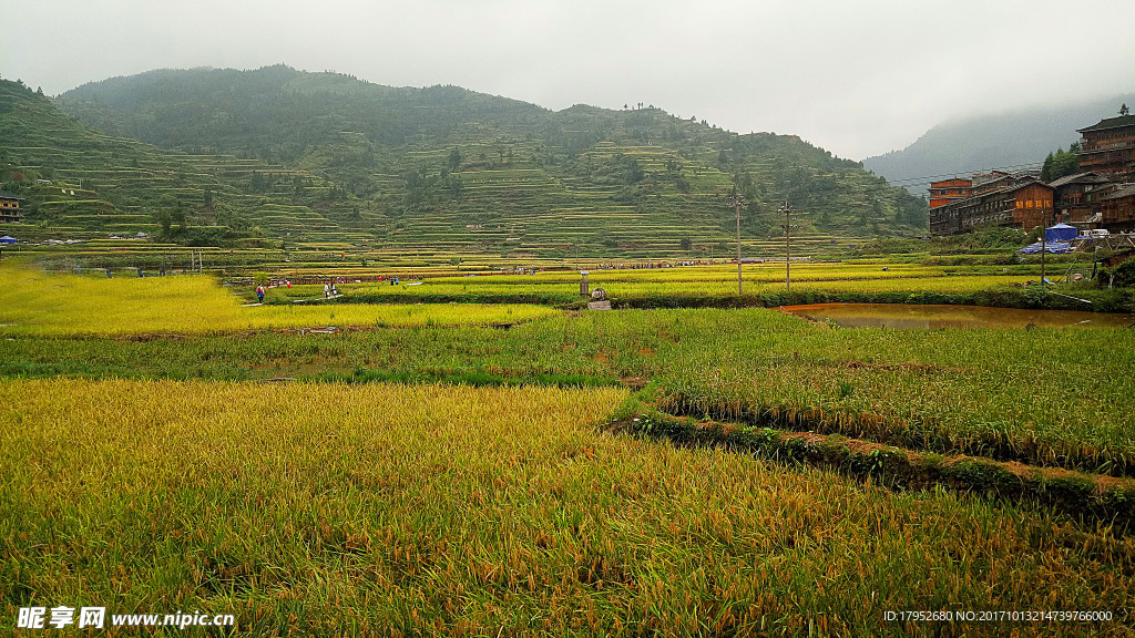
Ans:
{"type": "Polygon", "coordinates": [[[0,598],[234,613],[241,633],[1048,632],[901,610],[1110,611],[1135,542],[597,431],[616,389],[0,383],[0,598]]]}

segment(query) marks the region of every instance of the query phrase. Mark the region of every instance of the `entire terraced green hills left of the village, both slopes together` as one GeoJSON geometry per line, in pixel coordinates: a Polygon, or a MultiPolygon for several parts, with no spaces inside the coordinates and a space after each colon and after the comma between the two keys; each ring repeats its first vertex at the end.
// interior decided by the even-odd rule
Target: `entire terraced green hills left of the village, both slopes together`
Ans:
{"type": "Polygon", "coordinates": [[[77,121],[23,87],[5,100],[0,179],[25,177],[30,220],[86,236],[272,237],[293,259],[709,258],[732,251],[734,192],[753,257],[779,253],[785,200],[817,249],[924,225],[920,200],[856,162],[653,106],[552,112],[284,66],[87,84],[56,100],[77,121]]]}

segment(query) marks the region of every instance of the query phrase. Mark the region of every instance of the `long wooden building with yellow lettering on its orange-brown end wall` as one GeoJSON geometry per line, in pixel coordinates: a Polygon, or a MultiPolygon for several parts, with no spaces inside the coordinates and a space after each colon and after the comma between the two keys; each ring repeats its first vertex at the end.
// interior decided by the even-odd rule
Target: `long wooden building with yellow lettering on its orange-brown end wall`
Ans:
{"type": "Polygon", "coordinates": [[[934,235],[957,235],[982,226],[1048,227],[1056,218],[1053,193],[1036,179],[989,188],[931,209],[930,229],[934,235]]]}

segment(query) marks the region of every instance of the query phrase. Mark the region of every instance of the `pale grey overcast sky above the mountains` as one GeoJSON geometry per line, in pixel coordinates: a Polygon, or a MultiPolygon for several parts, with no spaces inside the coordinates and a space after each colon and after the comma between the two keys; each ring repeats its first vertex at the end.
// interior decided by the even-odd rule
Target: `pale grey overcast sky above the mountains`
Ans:
{"type": "Polygon", "coordinates": [[[1135,91],[1133,0],[35,0],[3,14],[0,75],[48,94],[284,62],[557,110],[653,103],[857,160],[948,119],[1135,91]]]}

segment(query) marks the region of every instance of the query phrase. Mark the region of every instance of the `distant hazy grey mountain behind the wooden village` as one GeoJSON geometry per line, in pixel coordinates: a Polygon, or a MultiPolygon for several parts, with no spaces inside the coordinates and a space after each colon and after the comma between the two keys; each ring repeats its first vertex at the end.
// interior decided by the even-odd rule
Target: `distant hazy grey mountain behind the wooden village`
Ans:
{"type": "Polygon", "coordinates": [[[1044,158],[1079,140],[1076,129],[1113,117],[1135,94],[995,116],[968,118],[931,128],[900,151],[867,158],[863,165],[891,183],[926,192],[930,176],[966,176],[977,170],[1041,168],[1044,158]]]}

